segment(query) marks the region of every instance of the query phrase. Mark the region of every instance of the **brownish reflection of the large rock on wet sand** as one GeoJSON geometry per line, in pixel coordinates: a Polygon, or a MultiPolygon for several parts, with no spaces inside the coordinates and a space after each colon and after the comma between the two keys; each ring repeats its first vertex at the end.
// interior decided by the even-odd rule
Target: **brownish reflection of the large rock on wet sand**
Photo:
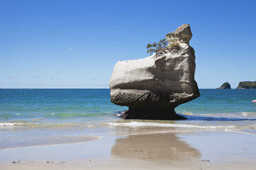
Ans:
{"type": "Polygon", "coordinates": [[[131,135],[118,138],[111,156],[142,160],[187,160],[200,157],[200,151],[180,141],[174,133],[131,135]]]}

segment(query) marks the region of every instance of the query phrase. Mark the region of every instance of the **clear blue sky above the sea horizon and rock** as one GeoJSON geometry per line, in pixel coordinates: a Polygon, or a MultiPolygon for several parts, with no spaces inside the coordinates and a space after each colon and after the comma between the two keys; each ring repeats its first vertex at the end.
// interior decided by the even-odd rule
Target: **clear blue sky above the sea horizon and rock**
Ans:
{"type": "Polygon", "coordinates": [[[256,81],[255,1],[0,1],[0,88],[108,88],[184,23],[199,88],[256,81]]]}

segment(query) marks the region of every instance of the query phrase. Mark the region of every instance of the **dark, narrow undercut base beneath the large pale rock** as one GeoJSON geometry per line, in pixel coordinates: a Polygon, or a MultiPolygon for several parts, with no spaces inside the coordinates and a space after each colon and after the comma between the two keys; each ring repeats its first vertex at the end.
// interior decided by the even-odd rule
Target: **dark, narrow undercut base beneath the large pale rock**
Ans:
{"type": "Polygon", "coordinates": [[[184,120],[176,114],[174,108],[131,108],[120,114],[123,119],[148,119],[148,120],[184,120]]]}

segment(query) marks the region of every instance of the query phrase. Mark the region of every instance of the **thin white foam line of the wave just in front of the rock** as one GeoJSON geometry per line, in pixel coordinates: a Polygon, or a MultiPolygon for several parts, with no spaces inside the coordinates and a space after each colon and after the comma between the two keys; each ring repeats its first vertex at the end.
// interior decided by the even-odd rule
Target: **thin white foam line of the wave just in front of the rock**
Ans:
{"type": "Polygon", "coordinates": [[[190,124],[175,124],[175,123],[152,123],[152,122],[127,122],[127,123],[108,123],[111,126],[127,126],[127,127],[183,127],[183,128],[203,128],[203,129],[223,129],[234,128],[235,125],[190,125],[190,124]]]}

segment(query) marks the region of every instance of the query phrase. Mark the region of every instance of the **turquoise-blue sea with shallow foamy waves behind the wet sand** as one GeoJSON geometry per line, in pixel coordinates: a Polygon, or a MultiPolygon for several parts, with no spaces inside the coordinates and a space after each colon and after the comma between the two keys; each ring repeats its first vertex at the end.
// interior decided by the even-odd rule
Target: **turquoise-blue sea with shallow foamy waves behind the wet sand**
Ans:
{"type": "Polygon", "coordinates": [[[254,89],[200,89],[175,108],[182,121],[124,120],[109,89],[1,89],[0,149],[96,140],[103,136],[193,131],[256,134],[254,89]]]}

